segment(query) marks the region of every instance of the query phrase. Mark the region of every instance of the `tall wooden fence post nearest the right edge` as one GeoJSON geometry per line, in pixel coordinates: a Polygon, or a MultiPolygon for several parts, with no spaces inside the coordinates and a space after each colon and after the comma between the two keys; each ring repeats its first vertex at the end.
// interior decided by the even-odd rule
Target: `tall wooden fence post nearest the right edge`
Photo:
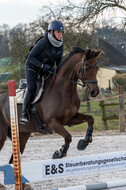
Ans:
{"type": "Polygon", "coordinates": [[[125,103],[124,103],[124,89],[122,86],[119,86],[119,127],[120,132],[125,131],[125,103]]]}

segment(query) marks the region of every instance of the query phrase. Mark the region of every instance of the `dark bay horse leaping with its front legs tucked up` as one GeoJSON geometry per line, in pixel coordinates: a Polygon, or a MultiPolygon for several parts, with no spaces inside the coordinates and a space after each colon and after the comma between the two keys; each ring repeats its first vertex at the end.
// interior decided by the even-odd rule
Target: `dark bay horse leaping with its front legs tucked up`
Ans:
{"type": "MultiPolygon", "coordinates": [[[[64,145],[59,151],[53,154],[53,158],[66,156],[69,145],[72,141],[70,133],[64,125],[71,127],[83,122],[88,123],[86,136],[78,143],[78,149],[84,150],[92,142],[94,119],[90,115],[79,113],[80,99],[77,93],[77,81],[80,79],[84,86],[87,86],[92,97],[99,93],[97,85],[97,64],[96,58],[100,51],[91,49],[84,50],[74,47],[61,67],[58,69],[54,82],[47,93],[35,104],[39,117],[48,128],[64,138],[64,145]]],[[[45,82],[45,92],[50,86],[54,76],[45,82]]],[[[18,105],[18,117],[20,118],[22,105],[18,105]]],[[[24,152],[25,145],[32,132],[36,132],[36,125],[31,114],[31,121],[27,125],[19,124],[20,151],[24,152]]],[[[0,150],[6,138],[11,139],[9,98],[8,93],[0,95],[0,150]]],[[[13,157],[10,162],[12,163],[13,157]]]]}

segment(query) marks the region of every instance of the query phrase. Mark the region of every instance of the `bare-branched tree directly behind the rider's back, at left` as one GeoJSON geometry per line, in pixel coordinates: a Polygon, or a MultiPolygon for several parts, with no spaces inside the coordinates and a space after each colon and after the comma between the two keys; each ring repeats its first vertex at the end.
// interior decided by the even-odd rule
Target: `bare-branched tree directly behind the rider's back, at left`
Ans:
{"type": "Polygon", "coordinates": [[[47,23],[40,23],[39,21],[32,22],[28,25],[18,24],[10,30],[10,57],[11,64],[8,69],[12,72],[11,78],[19,81],[25,78],[25,61],[31,46],[35,41],[43,36],[44,27],[47,23]]]}

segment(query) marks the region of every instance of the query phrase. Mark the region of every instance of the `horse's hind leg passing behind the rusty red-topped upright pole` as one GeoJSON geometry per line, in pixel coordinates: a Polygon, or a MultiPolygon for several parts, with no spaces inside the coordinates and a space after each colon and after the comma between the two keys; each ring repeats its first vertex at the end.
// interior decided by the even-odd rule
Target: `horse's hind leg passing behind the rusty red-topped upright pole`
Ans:
{"type": "MultiPolygon", "coordinates": [[[[23,154],[25,145],[27,143],[27,140],[29,139],[31,133],[19,133],[19,139],[20,139],[20,152],[23,154]]],[[[13,154],[11,155],[11,158],[9,160],[9,164],[13,163],[13,154]]]]}

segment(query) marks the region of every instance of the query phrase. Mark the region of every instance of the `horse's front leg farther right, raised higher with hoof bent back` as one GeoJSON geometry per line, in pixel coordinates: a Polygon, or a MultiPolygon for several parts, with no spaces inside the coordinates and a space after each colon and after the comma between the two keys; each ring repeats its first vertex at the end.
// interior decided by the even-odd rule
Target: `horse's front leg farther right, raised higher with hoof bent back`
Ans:
{"type": "Polygon", "coordinates": [[[90,115],[84,115],[81,113],[77,113],[71,120],[71,122],[68,124],[68,126],[81,124],[83,122],[88,123],[88,128],[86,131],[86,136],[84,139],[81,139],[78,142],[77,148],[78,150],[84,150],[89,143],[92,142],[92,133],[93,133],[93,124],[94,124],[94,118],[90,115]]]}

